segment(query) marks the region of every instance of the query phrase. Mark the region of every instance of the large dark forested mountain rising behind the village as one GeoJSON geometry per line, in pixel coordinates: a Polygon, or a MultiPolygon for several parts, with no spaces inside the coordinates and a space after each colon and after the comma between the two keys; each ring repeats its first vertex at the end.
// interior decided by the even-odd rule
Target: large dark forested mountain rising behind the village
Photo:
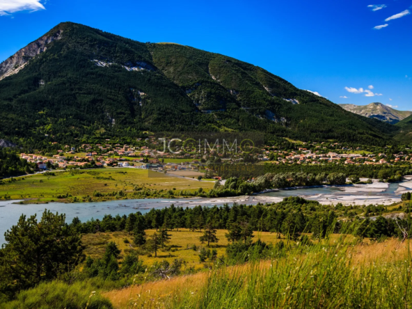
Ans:
{"type": "Polygon", "coordinates": [[[0,64],[0,119],[0,138],[38,148],[143,130],[386,145],[398,129],[235,58],[72,22],[0,64]]]}

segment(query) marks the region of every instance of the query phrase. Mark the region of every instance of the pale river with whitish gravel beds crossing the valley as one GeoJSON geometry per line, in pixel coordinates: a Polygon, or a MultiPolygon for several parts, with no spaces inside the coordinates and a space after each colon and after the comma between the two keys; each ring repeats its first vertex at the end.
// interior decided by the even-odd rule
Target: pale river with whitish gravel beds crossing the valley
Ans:
{"type": "Polygon", "coordinates": [[[70,223],[76,216],[81,221],[88,219],[102,219],[104,214],[130,214],[141,212],[145,214],[152,208],[164,208],[172,203],[175,206],[194,207],[196,205],[213,206],[228,203],[255,205],[257,203],[276,203],[288,196],[302,196],[308,200],[318,200],[322,204],[342,203],[344,205],[390,205],[400,201],[405,191],[412,191],[412,181],[399,184],[385,184],[374,182],[342,187],[316,187],[290,190],[279,190],[262,193],[256,196],[238,196],[235,198],[154,198],[138,200],[109,200],[98,203],[48,203],[48,204],[17,204],[16,200],[0,202],[0,244],[4,243],[4,232],[15,225],[19,216],[37,214],[40,219],[42,212],[47,208],[52,212],[66,214],[66,221],[70,223]]]}

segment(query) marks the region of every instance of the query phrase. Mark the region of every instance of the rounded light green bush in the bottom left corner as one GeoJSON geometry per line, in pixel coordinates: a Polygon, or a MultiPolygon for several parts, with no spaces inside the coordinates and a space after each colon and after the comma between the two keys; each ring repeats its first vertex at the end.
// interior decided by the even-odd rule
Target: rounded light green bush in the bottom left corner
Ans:
{"type": "Polygon", "coordinates": [[[73,283],[68,285],[59,281],[51,283],[40,283],[33,289],[26,290],[17,294],[14,301],[3,303],[1,308],[51,308],[51,309],[111,309],[111,302],[93,293],[93,287],[86,283],[73,283]],[[90,297],[90,295],[92,295],[90,297]],[[90,298],[89,298],[90,297],[90,298]]]}

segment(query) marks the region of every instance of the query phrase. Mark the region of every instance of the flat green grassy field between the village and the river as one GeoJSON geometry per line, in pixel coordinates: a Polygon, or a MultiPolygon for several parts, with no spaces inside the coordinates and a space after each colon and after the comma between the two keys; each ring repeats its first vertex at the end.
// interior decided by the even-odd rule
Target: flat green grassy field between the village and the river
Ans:
{"type": "Polygon", "coordinates": [[[157,190],[175,188],[179,192],[180,190],[195,191],[200,187],[206,190],[212,189],[214,183],[172,177],[163,173],[135,168],[98,168],[94,170],[55,172],[54,176],[44,174],[27,175],[18,177],[13,182],[5,180],[4,184],[0,185],[0,198],[7,195],[16,200],[57,201],[58,195],[66,193],[81,198],[93,196],[95,190],[102,193],[119,190],[132,192],[135,186],[157,190]]]}

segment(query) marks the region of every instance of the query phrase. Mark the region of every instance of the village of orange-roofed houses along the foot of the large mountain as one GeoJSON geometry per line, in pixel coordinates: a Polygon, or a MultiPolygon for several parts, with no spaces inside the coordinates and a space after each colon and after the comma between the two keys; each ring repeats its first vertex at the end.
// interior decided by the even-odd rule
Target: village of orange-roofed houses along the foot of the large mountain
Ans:
{"type": "MultiPolygon", "coordinates": [[[[139,142],[141,138],[138,139],[139,142]]],[[[51,168],[103,168],[130,167],[152,169],[155,171],[208,171],[208,164],[237,164],[246,162],[244,155],[235,152],[219,152],[219,145],[209,153],[188,153],[181,148],[179,153],[159,150],[154,138],[146,138],[145,145],[130,146],[126,144],[82,144],[75,148],[70,145],[57,145],[61,149],[56,154],[21,153],[20,157],[37,165],[39,171],[51,168]]],[[[323,144],[323,143],[322,143],[323,144]]],[[[306,148],[296,150],[278,150],[265,145],[255,149],[250,157],[255,164],[353,164],[353,165],[395,165],[412,161],[409,148],[396,154],[388,152],[363,152],[360,147],[352,149],[340,144],[317,145],[312,143],[306,148]]]]}

